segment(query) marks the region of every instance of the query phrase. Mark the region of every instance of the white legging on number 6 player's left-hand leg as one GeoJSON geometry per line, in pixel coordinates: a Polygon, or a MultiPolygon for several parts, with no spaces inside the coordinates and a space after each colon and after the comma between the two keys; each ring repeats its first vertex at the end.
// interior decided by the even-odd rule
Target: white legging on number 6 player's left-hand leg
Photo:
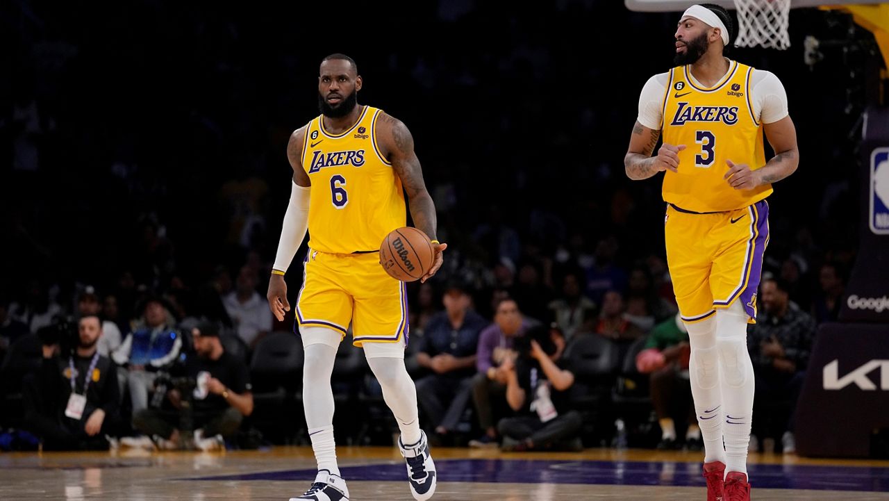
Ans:
{"type": "Polygon", "coordinates": [[[308,438],[318,470],[339,475],[336,463],[336,444],[333,441],[333,391],[331,373],[336,360],[336,348],[326,344],[309,344],[305,347],[305,365],[302,368],[302,406],[306,411],[308,438]]]}

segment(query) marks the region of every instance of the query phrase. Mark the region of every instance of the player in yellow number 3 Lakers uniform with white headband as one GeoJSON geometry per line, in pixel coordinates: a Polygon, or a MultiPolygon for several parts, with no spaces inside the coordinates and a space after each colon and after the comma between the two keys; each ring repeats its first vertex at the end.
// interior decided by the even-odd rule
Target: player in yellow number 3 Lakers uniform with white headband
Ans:
{"type": "Polygon", "coordinates": [[[787,94],[773,74],[724,57],[731,28],[720,6],[685,11],[676,68],[645,84],[624,159],[630,179],[664,172],[667,261],[692,345],[708,501],[750,498],[754,381],[746,338],[768,244],[765,198],[798,163],[787,94]],[[763,133],[775,151],[768,162],[763,133]]]}

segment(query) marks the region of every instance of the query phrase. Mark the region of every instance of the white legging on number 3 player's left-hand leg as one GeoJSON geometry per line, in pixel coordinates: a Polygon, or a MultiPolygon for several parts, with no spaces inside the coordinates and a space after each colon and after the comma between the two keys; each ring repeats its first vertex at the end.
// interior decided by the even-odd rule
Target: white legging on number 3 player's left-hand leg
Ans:
{"type": "Polygon", "coordinates": [[[694,410],[704,442],[704,462],[725,463],[723,448],[722,388],[719,384],[717,353],[717,322],[713,316],[699,322],[686,322],[688,340],[692,345],[689,373],[694,397],[694,410]]]}

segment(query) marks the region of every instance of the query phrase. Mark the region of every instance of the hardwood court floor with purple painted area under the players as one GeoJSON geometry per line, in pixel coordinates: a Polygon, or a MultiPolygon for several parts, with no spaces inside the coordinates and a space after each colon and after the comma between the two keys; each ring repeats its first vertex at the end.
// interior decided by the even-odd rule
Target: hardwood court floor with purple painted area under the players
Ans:
{"type": "MultiPolygon", "coordinates": [[[[702,500],[701,454],[588,449],[502,454],[437,448],[445,500],[702,500]]],[[[340,448],[356,500],[412,499],[394,448],[340,448]]],[[[889,500],[889,461],[750,458],[753,499],[889,500]]],[[[220,453],[0,454],[0,499],[65,501],[286,500],[315,476],[311,448],[220,453]]]]}

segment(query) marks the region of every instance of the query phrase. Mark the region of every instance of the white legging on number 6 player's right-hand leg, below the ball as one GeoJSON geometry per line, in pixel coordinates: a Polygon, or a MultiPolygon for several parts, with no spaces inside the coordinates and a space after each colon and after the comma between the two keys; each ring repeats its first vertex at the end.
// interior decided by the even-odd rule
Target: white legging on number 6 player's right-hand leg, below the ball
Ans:
{"type": "Polygon", "coordinates": [[[396,357],[375,357],[367,359],[373,376],[377,377],[383,390],[383,400],[392,410],[398,428],[401,429],[401,441],[404,445],[412,445],[420,441],[420,413],[417,409],[417,389],[411,376],[404,368],[404,359],[396,357]]]}

